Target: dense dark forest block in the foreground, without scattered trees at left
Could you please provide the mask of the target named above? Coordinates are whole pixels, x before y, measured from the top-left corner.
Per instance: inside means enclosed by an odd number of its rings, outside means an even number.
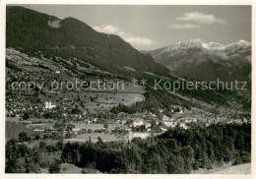
[[[225,162],[250,162],[250,124],[176,127],[158,137],[96,144],[67,143],[62,161],[103,173],[189,173]],[[150,157],[149,157],[150,156]]]

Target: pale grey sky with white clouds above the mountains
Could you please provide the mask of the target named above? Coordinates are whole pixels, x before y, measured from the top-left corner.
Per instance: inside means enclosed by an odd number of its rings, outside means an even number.
[[[23,5],[22,5],[23,6]],[[251,42],[251,6],[24,5],[55,16],[76,18],[97,31],[121,36],[138,50],[202,38],[229,44]]]

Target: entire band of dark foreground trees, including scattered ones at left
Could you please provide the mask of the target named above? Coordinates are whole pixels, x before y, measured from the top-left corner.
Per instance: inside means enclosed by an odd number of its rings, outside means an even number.
[[[6,144],[7,173],[60,172],[60,163],[73,163],[83,171],[102,173],[189,173],[199,168],[211,169],[231,162],[251,160],[251,124],[191,124],[189,129],[169,129],[157,137],[135,138],[131,142],[88,141],[83,144],[59,141],[55,146],[42,141],[36,148],[18,141]],[[42,153],[56,153],[60,159],[43,163]],[[150,157],[149,157],[150,156]]]

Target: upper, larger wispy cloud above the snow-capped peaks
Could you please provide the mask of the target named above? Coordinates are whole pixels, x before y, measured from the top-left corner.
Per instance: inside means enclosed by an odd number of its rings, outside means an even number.
[[[214,15],[206,15],[199,12],[185,13],[182,17],[176,18],[179,22],[191,22],[200,25],[223,24],[223,20],[217,19]]]

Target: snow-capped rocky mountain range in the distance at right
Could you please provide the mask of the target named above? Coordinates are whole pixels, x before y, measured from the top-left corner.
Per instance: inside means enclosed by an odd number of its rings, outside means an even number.
[[[206,81],[250,81],[251,43],[245,40],[224,45],[191,39],[144,53],[176,75]]]

